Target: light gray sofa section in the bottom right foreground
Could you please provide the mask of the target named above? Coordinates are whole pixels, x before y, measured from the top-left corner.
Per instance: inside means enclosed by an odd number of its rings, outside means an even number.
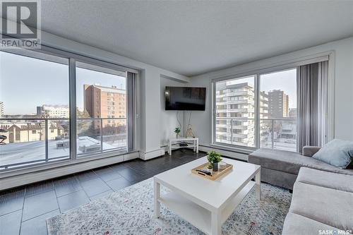
[[[301,167],[282,235],[352,233],[353,176]]]

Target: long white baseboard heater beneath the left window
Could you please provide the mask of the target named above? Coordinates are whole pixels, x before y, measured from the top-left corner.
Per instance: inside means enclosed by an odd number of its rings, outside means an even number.
[[[16,176],[9,176],[0,179],[0,191],[8,188],[23,186],[28,183],[35,183],[37,181],[53,179],[59,176],[75,174],[80,171],[87,171],[89,169],[95,169],[97,167],[104,167],[110,164],[124,162],[134,158],[138,158],[138,152],[131,152],[125,155],[105,157],[101,159],[90,160],[88,162],[79,162],[77,164],[68,164],[62,167],[44,169],[40,171],[32,171],[25,174],[18,174]]]

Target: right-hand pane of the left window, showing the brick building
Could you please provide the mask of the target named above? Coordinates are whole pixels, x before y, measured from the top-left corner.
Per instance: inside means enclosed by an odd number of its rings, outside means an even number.
[[[76,62],[77,153],[126,150],[126,72]]]

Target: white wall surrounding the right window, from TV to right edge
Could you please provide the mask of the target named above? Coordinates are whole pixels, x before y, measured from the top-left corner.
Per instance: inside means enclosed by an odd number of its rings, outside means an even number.
[[[198,133],[200,144],[208,146],[212,143],[211,80],[213,78],[242,73],[243,71],[249,71],[251,68],[262,68],[281,61],[289,61],[290,59],[298,59],[331,50],[335,52],[335,138],[353,140],[353,37],[349,37],[345,40],[329,42],[317,47],[192,77],[190,85],[208,88],[206,111],[193,114],[197,121],[192,124],[194,130]]]

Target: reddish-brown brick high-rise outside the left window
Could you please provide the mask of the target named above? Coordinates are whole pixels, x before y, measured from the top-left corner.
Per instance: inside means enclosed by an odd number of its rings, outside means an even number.
[[[85,111],[92,118],[111,118],[107,123],[122,123],[114,118],[126,117],[126,90],[101,85],[83,85]],[[95,128],[100,123],[95,121]]]

